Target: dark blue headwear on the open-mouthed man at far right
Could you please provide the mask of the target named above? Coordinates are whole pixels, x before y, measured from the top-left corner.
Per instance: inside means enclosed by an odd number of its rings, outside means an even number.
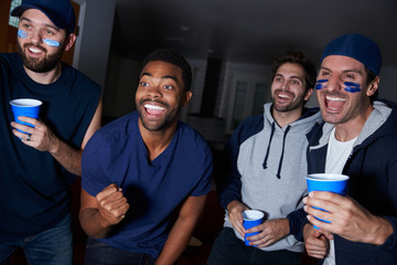
[[[352,57],[379,75],[382,55],[378,45],[361,34],[345,34],[331,41],[321,56],[321,62],[329,55]]]

